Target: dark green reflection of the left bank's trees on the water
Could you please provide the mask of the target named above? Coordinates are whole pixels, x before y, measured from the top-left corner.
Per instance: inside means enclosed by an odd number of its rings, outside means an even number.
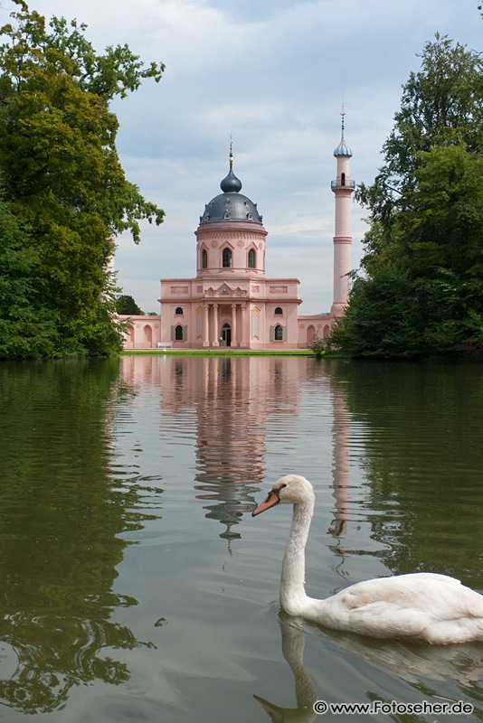
[[[56,709],[72,685],[128,679],[102,650],[140,643],[109,620],[136,600],[111,593],[119,532],[137,489],[112,488],[109,446],[118,362],[52,362],[0,370],[0,681],[7,706]]]

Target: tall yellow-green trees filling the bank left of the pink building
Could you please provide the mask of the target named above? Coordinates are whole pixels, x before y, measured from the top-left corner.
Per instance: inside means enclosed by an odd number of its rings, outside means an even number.
[[[94,52],[85,26],[29,11],[0,29],[0,358],[120,345],[109,260],[117,233],[164,212],[129,183],[109,101],[161,78],[128,46]]]

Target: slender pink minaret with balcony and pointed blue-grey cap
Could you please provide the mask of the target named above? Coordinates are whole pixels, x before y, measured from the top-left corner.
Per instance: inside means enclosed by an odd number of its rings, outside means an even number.
[[[334,235],[334,298],[330,313],[342,316],[347,305],[350,290],[348,274],[351,268],[351,195],[355,189],[354,181],[350,180],[349,158],[352,151],[344,138],[344,107],[342,116],[342,138],[334,151],[337,159],[336,181],[330,183],[336,194],[336,230]]]

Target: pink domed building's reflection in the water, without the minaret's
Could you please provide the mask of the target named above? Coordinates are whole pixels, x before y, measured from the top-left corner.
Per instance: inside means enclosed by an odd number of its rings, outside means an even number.
[[[183,430],[194,445],[195,497],[206,517],[223,524],[221,537],[240,536],[236,525],[253,509],[265,476],[267,431],[280,418],[297,418],[299,380],[309,379],[313,365],[309,358],[263,355],[121,358],[127,389],[156,389],[163,444],[183,444]]]

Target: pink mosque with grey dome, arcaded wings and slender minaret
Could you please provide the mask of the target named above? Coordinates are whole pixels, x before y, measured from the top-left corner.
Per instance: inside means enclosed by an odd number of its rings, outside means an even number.
[[[196,277],[161,279],[159,316],[122,316],[130,325],[124,349],[305,349],[327,337],[344,313],[351,271],[352,151],[342,137],[334,151],[336,197],[334,295],[330,313],[299,315],[298,278],[265,276],[266,238],[257,204],[241,193],[230,170],[208,202],[196,236]]]

